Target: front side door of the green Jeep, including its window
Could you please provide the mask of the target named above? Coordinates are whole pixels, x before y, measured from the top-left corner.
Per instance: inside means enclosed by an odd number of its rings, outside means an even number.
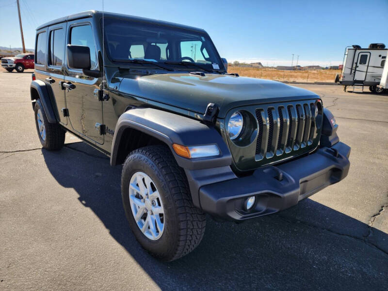
[[[66,44],[89,47],[91,69],[98,69],[92,23],[80,23],[79,20],[68,22],[66,36]],[[88,77],[82,70],[70,69],[66,62],[65,83],[74,85],[73,89],[65,88],[70,130],[81,134],[86,140],[103,144],[104,135],[100,135],[96,129],[96,125],[102,125],[102,101],[94,97],[94,90],[99,89],[101,78]]]

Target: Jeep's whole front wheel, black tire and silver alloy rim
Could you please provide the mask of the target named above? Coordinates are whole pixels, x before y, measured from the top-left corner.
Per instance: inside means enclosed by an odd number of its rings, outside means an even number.
[[[152,255],[172,261],[201,242],[206,216],[194,207],[186,175],[167,146],[146,146],[128,155],[121,194],[133,234]]]

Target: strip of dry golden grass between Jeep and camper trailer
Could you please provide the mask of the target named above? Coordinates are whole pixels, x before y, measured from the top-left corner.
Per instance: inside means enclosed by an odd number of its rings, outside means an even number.
[[[227,71],[244,77],[296,82],[334,82],[336,74],[340,74],[340,70],[282,71],[273,68],[259,69],[230,65]]]

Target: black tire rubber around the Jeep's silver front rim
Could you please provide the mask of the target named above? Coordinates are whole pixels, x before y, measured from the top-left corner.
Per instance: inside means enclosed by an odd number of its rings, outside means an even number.
[[[156,241],[143,234],[130,209],[129,181],[136,172],[147,174],[162,197],[164,230]],[[194,207],[186,175],[167,146],[145,146],[128,155],[121,174],[121,194],[125,214],[136,240],[155,257],[165,261],[179,259],[201,242],[206,215]]]

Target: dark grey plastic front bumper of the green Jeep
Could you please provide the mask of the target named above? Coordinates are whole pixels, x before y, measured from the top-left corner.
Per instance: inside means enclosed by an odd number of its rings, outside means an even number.
[[[259,168],[248,177],[204,185],[199,189],[199,203],[205,212],[226,220],[275,213],[345,178],[349,155],[350,147],[341,142],[322,147],[291,162]],[[244,202],[253,195],[255,205],[247,211]]]

